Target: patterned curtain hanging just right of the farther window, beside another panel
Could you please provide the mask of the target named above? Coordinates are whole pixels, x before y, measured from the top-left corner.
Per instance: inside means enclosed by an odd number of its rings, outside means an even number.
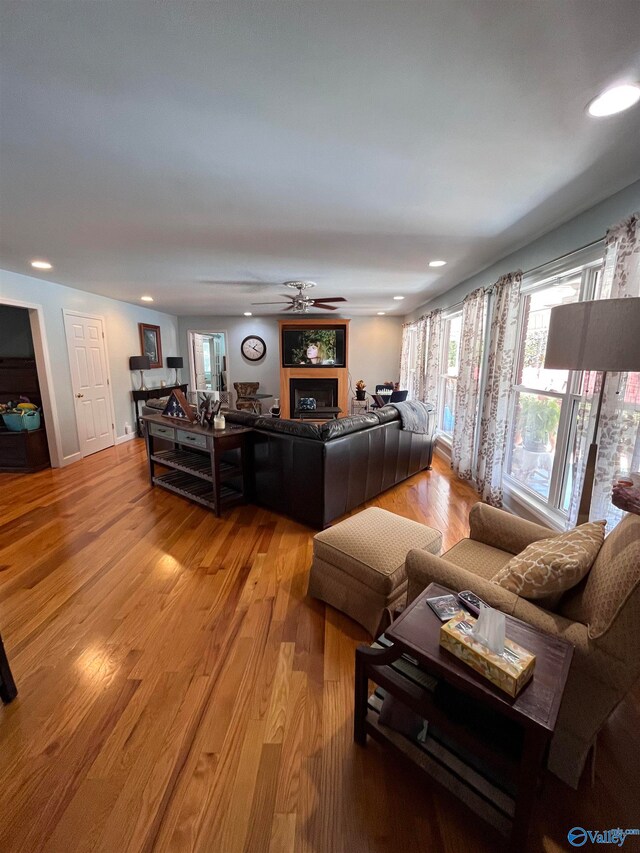
[[[451,437],[451,467],[461,480],[474,479],[476,473],[474,457],[486,309],[487,294],[483,288],[470,293],[462,305],[456,415]]]

